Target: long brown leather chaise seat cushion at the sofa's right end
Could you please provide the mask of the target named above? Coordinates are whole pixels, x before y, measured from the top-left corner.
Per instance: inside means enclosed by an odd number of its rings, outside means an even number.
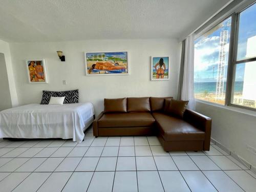
[[[165,141],[202,141],[205,138],[205,132],[183,119],[158,112],[153,113],[153,117]]]

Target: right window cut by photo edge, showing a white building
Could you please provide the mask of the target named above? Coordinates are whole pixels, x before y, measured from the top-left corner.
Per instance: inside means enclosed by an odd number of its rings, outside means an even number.
[[[256,4],[239,15],[231,103],[256,109]]]

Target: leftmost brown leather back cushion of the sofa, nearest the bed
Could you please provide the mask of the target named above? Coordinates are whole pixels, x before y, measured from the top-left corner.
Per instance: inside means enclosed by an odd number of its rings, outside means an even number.
[[[104,113],[126,112],[126,98],[104,99]]]

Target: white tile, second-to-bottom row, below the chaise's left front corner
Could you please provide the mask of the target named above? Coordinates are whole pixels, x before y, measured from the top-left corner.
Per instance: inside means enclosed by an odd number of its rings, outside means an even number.
[[[170,156],[155,156],[154,159],[158,170],[178,170]]]

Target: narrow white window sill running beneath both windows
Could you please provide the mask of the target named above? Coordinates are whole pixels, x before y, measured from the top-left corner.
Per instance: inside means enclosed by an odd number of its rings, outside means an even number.
[[[234,106],[221,105],[221,104],[217,104],[217,103],[203,101],[203,100],[200,100],[200,99],[195,99],[195,102],[204,103],[204,104],[208,104],[208,105],[211,105],[211,106],[216,106],[217,108],[222,108],[222,109],[225,109],[225,110],[234,111],[234,112],[238,112],[238,113],[242,113],[242,114],[246,114],[246,115],[256,117],[256,112],[255,111],[250,111],[250,110],[246,110],[246,109],[242,109],[242,108],[236,108]]]

